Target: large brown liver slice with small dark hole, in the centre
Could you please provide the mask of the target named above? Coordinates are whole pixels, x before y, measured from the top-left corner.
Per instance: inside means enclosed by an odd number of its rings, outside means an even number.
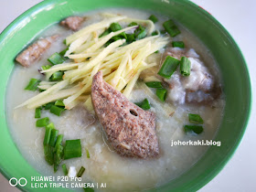
[[[119,155],[149,158],[159,154],[154,112],[145,112],[128,101],[103,81],[101,71],[93,77],[91,98],[108,140]]]

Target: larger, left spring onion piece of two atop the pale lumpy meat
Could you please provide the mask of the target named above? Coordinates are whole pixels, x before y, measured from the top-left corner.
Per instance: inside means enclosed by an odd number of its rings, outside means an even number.
[[[166,79],[170,79],[172,74],[176,71],[179,62],[180,61],[178,59],[175,59],[171,56],[167,56],[161,69],[158,71],[157,74]]]

